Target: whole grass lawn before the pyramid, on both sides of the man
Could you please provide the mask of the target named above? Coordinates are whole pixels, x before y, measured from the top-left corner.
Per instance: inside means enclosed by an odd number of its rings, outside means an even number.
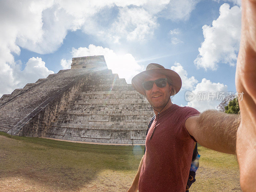
[[[127,191],[144,150],[144,146],[134,146],[142,151],[131,151],[132,146],[71,143],[4,132],[0,132],[0,146],[0,191],[31,192]],[[190,191],[241,191],[235,156],[204,147],[198,151],[200,167]]]

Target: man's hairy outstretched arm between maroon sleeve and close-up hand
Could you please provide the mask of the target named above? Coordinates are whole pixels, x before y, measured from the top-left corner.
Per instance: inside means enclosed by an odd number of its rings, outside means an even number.
[[[199,116],[188,117],[185,127],[200,145],[236,154],[236,131],[239,124],[239,115],[207,110]]]

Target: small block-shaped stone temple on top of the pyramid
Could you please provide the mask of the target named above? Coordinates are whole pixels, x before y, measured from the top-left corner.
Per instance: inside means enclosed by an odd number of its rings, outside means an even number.
[[[103,55],[72,58],[71,69],[93,67],[108,68]]]

